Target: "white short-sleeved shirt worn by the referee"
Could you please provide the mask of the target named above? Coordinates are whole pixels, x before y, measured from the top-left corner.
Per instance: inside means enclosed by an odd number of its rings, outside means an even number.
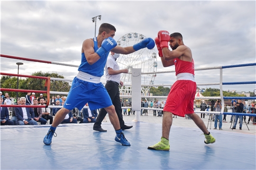
[[[119,70],[119,66],[115,58],[110,55],[107,59],[105,71],[106,71],[106,81],[114,81],[120,83],[120,74],[117,75],[109,75],[108,68],[112,68],[113,70]]]

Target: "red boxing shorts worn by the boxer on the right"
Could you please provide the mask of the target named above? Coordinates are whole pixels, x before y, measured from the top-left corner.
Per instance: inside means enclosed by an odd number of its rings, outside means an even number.
[[[178,80],[168,94],[164,111],[185,117],[185,114],[194,113],[194,99],[196,83],[191,80]]]

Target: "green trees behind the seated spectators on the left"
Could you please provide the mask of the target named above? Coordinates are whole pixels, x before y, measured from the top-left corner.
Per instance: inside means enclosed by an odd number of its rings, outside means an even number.
[[[38,71],[35,73],[32,73],[32,76],[44,76],[44,77],[54,77],[54,78],[64,78],[64,76],[59,75],[58,73],[43,73],[42,71]],[[39,78],[21,78],[19,77],[18,80],[18,88],[24,89],[24,90],[45,90],[45,79],[39,79]],[[57,92],[68,92],[70,89],[69,82],[65,81],[54,81],[51,80],[50,83],[50,91],[57,91]],[[11,76],[1,76],[0,79],[0,86],[1,88],[11,88],[11,89],[17,89],[17,77],[11,77]],[[6,92],[2,92],[5,94]],[[11,97],[16,96],[16,92],[7,92]],[[25,96],[27,93],[18,93],[18,96]],[[57,95],[57,94],[56,94]],[[39,94],[36,94],[38,97]],[[44,94],[46,96],[46,94]]]

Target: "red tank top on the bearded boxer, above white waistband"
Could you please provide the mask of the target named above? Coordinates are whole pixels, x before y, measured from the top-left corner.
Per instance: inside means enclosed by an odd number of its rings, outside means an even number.
[[[193,59],[192,59],[192,62],[189,62],[189,61],[183,61],[179,58],[176,58],[174,59],[174,65],[175,65],[176,76],[177,74],[180,74],[180,73],[190,73],[192,75],[195,75]]]

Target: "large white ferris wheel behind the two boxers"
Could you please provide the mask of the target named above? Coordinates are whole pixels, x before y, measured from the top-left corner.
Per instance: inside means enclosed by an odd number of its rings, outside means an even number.
[[[128,33],[119,38],[117,43],[121,47],[128,47],[133,46],[144,38],[146,38],[146,36],[143,34]],[[117,62],[120,69],[127,68],[129,72],[131,72],[131,68],[141,68],[142,73],[156,72],[157,69],[157,59],[154,48],[152,50],[144,48],[128,55],[120,54]],[[124,84],[128,84],[121,87],[120,93],[131,93],[131,87],[129,86],[131,85],[131,74],[122,73],[120,76],[121,81],[124,82]],[[143,85],[153,85],[155,76],[156,74],[144,74],[141,76],[141,83]],[[142,93],[147,93],[149,89],[150,86],[142,87]]]

